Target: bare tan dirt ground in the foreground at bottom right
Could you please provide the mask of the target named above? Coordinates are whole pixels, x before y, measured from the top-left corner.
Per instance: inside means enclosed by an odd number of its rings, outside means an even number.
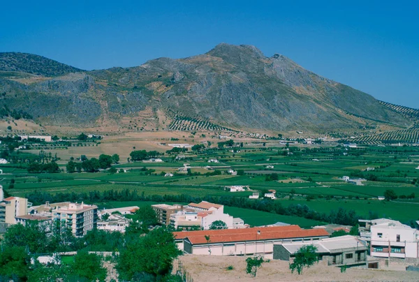
[[[263,263],[253,278],[246,274],[246,257],[183,255],[179,259],[193,281],[419,281],[418,272],[348,268],[341,273],[338,267],[323,265],[322,262],[297,275],[291,274],[288,262],[282,260]],[[227,270],[229,265],[234,269]]]

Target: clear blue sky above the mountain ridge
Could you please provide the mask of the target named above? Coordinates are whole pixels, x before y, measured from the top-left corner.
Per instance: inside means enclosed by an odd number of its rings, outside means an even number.
[[[418,12],[417,1],[385,0],[8,1],[0,9],[0,52],[91,70],[189,57],[221,42],[250,44],[419,108]]]

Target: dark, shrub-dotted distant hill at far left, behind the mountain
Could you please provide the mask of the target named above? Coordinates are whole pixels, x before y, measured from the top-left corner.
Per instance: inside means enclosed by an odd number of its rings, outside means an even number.
[[[34,54],[0,52],[0,71],[30,73],[50,77],[76,73],[82,70]]]

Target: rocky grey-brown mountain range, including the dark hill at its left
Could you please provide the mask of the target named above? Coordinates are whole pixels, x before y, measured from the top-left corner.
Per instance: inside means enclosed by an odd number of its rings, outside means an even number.
[[[128,117],[135,121],[131,129],[138,130],[146,124],[141,119],[147,112],[147,120],[161,129],[179,128],[172,126],[178,122],[184,129],[213,124],[311,132],[411,125],[362,91],[307,71],[280,54],[265,57],[249,45],[223,43],[194,57],[101,71],[80,71],[30,54],[13,59],[10,54],[16,53],[0,54],[0,106],[26,112],[43,124],[122,126]],[[43,75],[45,80],[24,80],[2,71]]]

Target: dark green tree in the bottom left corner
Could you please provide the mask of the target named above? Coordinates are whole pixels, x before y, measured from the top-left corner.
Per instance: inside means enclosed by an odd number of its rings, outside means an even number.
[[[24,247],[0,248],[0,281],[26,281],[31,265]]]

